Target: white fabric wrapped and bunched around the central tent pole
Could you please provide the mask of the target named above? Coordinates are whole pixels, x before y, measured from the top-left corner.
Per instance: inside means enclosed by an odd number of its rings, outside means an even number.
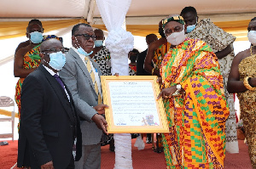
[[[133,36],[122,28],[131,0],[96,0],[102,20],[108,30],[105,41],[111,55],[112,74],[129,75],[128,53],[133,48]],[[132,168],[131,134],[116,133],[113,135],[115,144],[115,169]]]

